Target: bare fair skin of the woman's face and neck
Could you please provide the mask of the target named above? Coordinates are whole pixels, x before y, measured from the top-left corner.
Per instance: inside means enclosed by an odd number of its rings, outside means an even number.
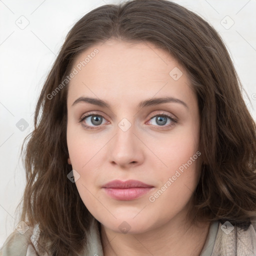
[[[69,83],[67,146],[68,162],[80,175],[75,182],[80,197],[101,223],[104,255],[199,255],[209,222],[191,226],[185,221],[198,181],[199,156],[158,198],[149,201],[199,150],[199,110],[185,70],[149,42],[114,39],[82,52],[73,67],[95,48],[99,52]],[[183,73],[177,80],[169,75],[174,67]],[[73,104],[81,96],[100,98],[110,108]],[[187,107],[166,102],[138,108],[141,100],[164,96],[180,99]],[[79,122],[91,111],[103,116],[101,124],[92,123],[91,116]],[[160,125],[155,117],[161,115],[159,111],[177,122],[167,118]],[[118,126],[123,118],[131,125],[126,131]],[[94,129],[85,129],[82,123]],[[113,179],[136,179],[153,188],[133,200],[116,200],[101,187]],[[123,221],[130,227],[127,233],[118,228]]]

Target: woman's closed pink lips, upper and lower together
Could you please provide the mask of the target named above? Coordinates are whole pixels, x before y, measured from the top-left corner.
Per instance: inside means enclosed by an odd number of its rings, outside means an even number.
[[[154,186],[139,180],[112,180],[102,186],[104,191],[117,200],[133,200],[149,192]]]

